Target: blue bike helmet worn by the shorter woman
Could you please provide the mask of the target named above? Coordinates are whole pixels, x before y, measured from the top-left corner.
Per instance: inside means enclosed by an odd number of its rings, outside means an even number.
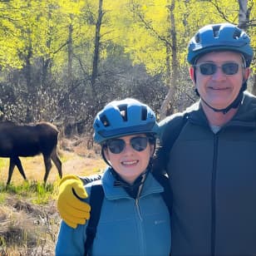
[[[131,98],[111,101],[107,104],[96,115],[93,128],[94,140],[99,144],[125,135],[140,133],[157,135],[159,130],[154,111]]]

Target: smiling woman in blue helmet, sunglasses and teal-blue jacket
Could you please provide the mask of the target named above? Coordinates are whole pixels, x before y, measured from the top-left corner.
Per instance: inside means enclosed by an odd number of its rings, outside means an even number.
[[[170,214],[164,188],[150,173],[158,125],[149,106],[134,99],[111,101],[96,115],[94,140],[109,167],[102,176],[104,199],[89,255],[169,255]],[[86,192],[90,199],[91,186]],[[84,255],[86,224],[64,221],[57,255]]]

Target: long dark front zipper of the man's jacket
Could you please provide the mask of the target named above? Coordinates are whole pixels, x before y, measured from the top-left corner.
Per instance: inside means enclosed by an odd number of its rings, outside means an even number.
[[[218,145],[219,135],[214,135],[214,160],[212,172],[212,188],[211,188],[211,201],[212,201],[212,220],[211,220],[211,255],[215,255],[215,233],[216,233],[216,175],[217,175],[217,160],[218,160]]]

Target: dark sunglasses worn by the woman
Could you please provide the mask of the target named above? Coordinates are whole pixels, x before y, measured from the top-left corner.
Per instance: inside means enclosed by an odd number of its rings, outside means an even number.
[[[131,147],[136,151],[145,150],[148,145],[149,138],[148,137],[133,137],[130,139]],[[106,141],[106,147],[111,150],[113,154],[120,154],[126,147],[126,141],[122,139],[112,139]]]

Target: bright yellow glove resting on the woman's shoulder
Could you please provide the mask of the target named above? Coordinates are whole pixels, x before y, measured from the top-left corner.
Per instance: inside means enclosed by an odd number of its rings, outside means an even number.
[[[62,219],[71,228],[85,224],[90,219],[91,206],[81,201],[88,197],[83,183],[76,175],[66,175],[59,185],[57,209]]]

